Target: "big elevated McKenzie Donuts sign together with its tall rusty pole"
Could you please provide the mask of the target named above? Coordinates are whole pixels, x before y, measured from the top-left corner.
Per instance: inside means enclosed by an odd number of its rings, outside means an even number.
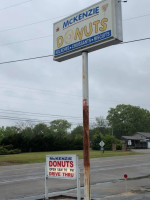
[[[121,1],[101,0],[54,23],[53,32],[55,61],[82,54],[84,200],[90,200],[88,53],[123,41]]]

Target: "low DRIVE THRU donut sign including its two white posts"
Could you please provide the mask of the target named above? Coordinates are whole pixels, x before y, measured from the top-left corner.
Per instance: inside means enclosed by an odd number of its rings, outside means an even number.
[[[77,155],[47,155],[45,166],[45,199],[48,199],[48,179],[77,180],[77,200],[80,200],[80,169]]]

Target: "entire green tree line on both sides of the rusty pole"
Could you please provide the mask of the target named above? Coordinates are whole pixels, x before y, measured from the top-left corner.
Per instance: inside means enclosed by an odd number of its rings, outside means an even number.
[[[137,106],[117,105],[108,111],[106,119],[98,117],[90,127],[92,149],[100,149],[101,140],[105,142],[106,150],[111,150],[112,143],[120,149],[119,139],[123,135],[150,132],[150,112]],[[81,149],[83,127],[78,125],[71,129],[71,123],[64,119],[53,120],[48,125],[39,123],[0,128],[1,154]]]

